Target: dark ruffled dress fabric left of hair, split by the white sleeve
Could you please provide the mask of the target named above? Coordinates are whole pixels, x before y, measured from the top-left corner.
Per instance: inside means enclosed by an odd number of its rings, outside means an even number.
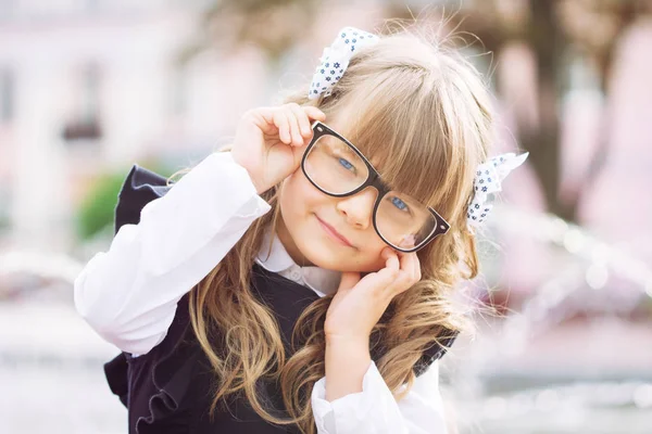
[[[134,165],[123,183],[115,206],[115,233],[123,225],[140,221],[140,212],[149,202],[167,193],[167,179]],[[164,433],[165,426],[186,417],[190,407],[188,394],[192,370],[197,368],[201,348],[192,339],[188,312],[188,294],[178,302],[175,318],[165,339],[139,357],[122,353],[104,365],[111,392],[129,407],[129,432]]]

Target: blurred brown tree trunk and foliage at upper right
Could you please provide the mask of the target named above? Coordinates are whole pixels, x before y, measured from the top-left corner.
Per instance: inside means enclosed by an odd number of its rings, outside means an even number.
[[[412,16],[405,5],[410,2],[390,3],[391,16]],[[418,0],[414,3],[415,8],[423,5]],[[444,3],[455,8],[460,4],[459,0]],[[635,20],[649,11],[649,0],[482,0],[464,2],[459,13],[447,18],[456,33],[477,36],[496,58],[514,44],[524,44],[531,53],[536,64],[536,98],[531,104],[537,119],[532,123],[525,112],[515,113],[514,133],[518,145],[530,152],[528,162],[539,178],[548,210],[565,220],[577,221],[581,193],[587,191],[582,187],[592,183],[609,153],[610,127],[603,111],[600,143],[582,186],[562,197],[560,106],[567,88],[567,60],[573,53],[595,65],[600,91],[607,99],[618,42]]]

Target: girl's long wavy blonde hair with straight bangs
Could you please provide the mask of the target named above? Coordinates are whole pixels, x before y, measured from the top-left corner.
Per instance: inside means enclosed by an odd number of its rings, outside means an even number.
[[[376,167],[391,186],[410,191],[451,225],[446,235],[417,253],[422,280],[394,297],[372,334],[373,345],[383,348],[376,365],[397,399],[412,386],[424,350],[443,345],[466,324],[452,307],[451,294],[461,280],[478,272],[466,206],[475,167],[486,159],[491,140],[489,95],[479,74],[428,35],[409,28],[385,35],[351,59],[331,95],[309,100],[305,84],[285,101],[317,106],[326,119],[348,108],[350,122],[339,132],[377,158]],[[242,393],[266,421],[297,424],[314,434],[310,395],[325,374],[323,327],[333,297],[315,301],[301,314],[288,358],[274,312],[250,288],[264,233],[280,218],[278,188],[262,197],[272,212],[253,222],[190,294],[192,328],[217,380],[211,413],[229,395]],[[212,343],[215,335],[225,345],[220,354]],[[297,342],[304,344],[296,347]],[[265,408],[256,394],[260,379],[278,381],[289,419]],[[404,383],[408,387],[399,391]]]

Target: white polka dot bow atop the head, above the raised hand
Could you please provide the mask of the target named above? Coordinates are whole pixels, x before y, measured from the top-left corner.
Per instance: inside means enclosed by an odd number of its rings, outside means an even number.
[[[373,46],[378,42],[378,36],[360,30],[355,27],[342,28],[330,47],[324,49],[319,59],[319,66],[313,75],[308,98],[314,100],[330,95],[334,86],[342,78],[349,66],[349,61],[363,47]]]

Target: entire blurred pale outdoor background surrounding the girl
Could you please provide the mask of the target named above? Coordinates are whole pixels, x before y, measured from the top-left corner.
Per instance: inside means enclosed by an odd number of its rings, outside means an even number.
[[[72,284],[133,164],[197,164],[339,28],[424,10],[490,81],[494,153],[530,152],[466,289],[502,315],[443,359],[456,431],[652,433],[650,0],[1,0],[0,432],[126,432]]]

